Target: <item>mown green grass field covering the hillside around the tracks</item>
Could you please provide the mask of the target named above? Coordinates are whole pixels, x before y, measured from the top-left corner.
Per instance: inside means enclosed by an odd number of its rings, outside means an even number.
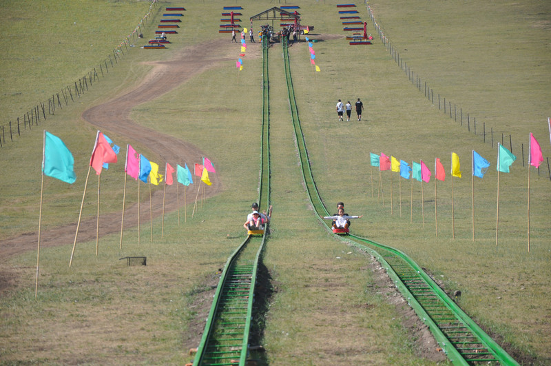
[[[353,232],[406,252],[441,279],[448,292],[461,290],[459,305],[519,362],[548,364],[551,182],[546,162],[540,175],[532,168],[528,252],[526,155],[530,132],[543,156],[551,152],[546,125],[551,63],[545,57],[550,47],[549,4],[370,2],[386,37],[435,92],[476,116],[477,122],[486,123],[487,132],[493,128],[499,141],[501,134],[507,136],[508,148],[511,134],[518,159],[510,174],[500,174],[496,246],[496,147],[431,105],[377,37],[371,46],[349,46],[337,3],[300,1],[303,23],[315,26],[310,37],[318,40],[313,48],[321,72],[313,72],[305,43],[290,50],[300,121],[320,196],[329,211],[337,201],[344,201],[350,214],[365,214],[353,223]],[[171,37],[171,48],[163,52],[132,48],[79,101],[14,143],[6,141],[0,149],[5,178],[0,185],[0,240],[38,229],[43,129],[65,141],[74,154],[78,177],[74,185],[45,180],[45,230],[75,222],[79,214],[96,133],[81,119],[82,112],[132,90],[151,70],[149,61],[171,59],[180,48],[211,39],[226,37],[229,42],[231,36],[216,32],[222,6],[227,5],[161,2],[154,8],[151,26],[143,30],[145,39],[136,45],[154,37],[153,25],[161,17],[161,8],[185,6],[181,37]],[[245,8],[242,19],[278,6],[268,1],[239,5]],[[368,21],[366,7],[357,6]],[[0,57],[5,70],[0,77],[4,90],[0,124],[5,124],[107,57],[147,13],[149,2],[18,1],[3,2],[0,7],[6,17],[1,29],[9,35],[2,40],[6,51]],[[115,15],[117,21],[112,21]],[[40,20],[30,27],[30,19]],[[257,24],[254,27],[258,29]],[[368,28],[375,36],[369,21]],[[17,48],[10,47],[13,37],[21,37]],[[200,329],[198,298],[209,291],[218,268],[245,238],[242,222],[257,197],[262,61],[256,57],[256,48],[258,43],[249,43],[240,74],[235,61],[221,61],[132,113],[137,123],[191,141],[204,151],[216,166],[223,192],[207,199],[186,223],[178,225],[176,212],[167,215],[163,239],[160,219],[154,220],[152,243],[149,223],[145,223],[140,246],[136,228],[125,232],[123,250],[118,249],[118,235],[106,236],[100,240],[97,257],[95,243],[79,245],[72,268],[67,267],[72,243],[41,250],[37,301],[36,253],[3,261],[0,278],[7,281],[17,274],[17,281],[0,298],[2,363],[180,364],[189,360],[187,347],[196,337],[190,333]],[[280,46],[269,54],[274,214],[264,265],[277,287],[261,340],[269,363],[433,364],[419,357],[400,314],[373,286],[368,269],[371,258],[333,240],[313,216],[295,152]],[[212,57],[222,56],[212,50]],[[337,123],[337,99],[354,103],[358,97],[366,107],[362,121]],[[132,143],[125,136],[109,135],[121,146]],[[134,148],[163,163],[154,149]],[[475,179],[474,242],[471,150],[492,163],[484,179]],[[415,181],[412,191],[410,181],[392,177],[391,214],[390,173],[382,172],[383,205],[370,152],[408,162],[423,160],[431,171],[434,159],[441,159],[446,181],[437,185],[438,236],[433,179],[423,185],[423,227],[420,183]],[[459,154],[463,171],[461,179],[454,179],[455,239],[451,236],[451,152]],[[102,181],[103,212],[121,209],[122,165],[110,167]],[[87,199],[83,214],[88,218],[96,214],[93,197]],[[147,256],[148,265],[126,267],[118,258],[127,255]]]

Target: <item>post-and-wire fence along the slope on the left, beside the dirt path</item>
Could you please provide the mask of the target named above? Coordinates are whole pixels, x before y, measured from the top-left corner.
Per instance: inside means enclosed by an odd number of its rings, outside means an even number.
[[[74,103],[75,99],[79,99],[85,94],[94,83],[100,81],[100,76],[105,78],[106,74],[109,74],[121,59],[130,49],[131,44],[136,42],[139,35],[142,34],[142,26],[147,26],[156,8],[158,0],[152,0],[151,6],[147,14],[141,19],[140,23],[132,30],[132,33],[127,35],[116,48],[112,50],[111,54],[108,54],[103,61],[94,66],[89,72],[85,73],[83,77],[74,81],[70,85],[66,85],[61,88],[59,92],[54,92],[48,101],[40,101],[37,105],[34,105],[30,110],[23,113],[23,116],[18,116],[17,119],[9,121],[8,124],[0,125],[0,148],[6,145],[7,141],[14,141],[16,136],[27,130],[31,131],[34,127],[37,127],[39,123],[47,120],[51,116],[54,116],[56,110],[63,109],[63,106]],[[132,39],[132,41],[130,41]]]

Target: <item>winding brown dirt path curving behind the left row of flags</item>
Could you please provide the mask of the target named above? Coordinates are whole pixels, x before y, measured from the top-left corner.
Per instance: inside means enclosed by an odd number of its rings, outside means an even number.
[[[217,39],[201,43],[200,45],[184,48],[170,61],[153,63],[155,67],[145,76],[143,82],[137,88],[125,91],[114,99],[83,112],[83,119],[98,127],[99,130],[115,132],[126,136],[131,141],[136,141],[147,146],[160,156],[163,161],[200,161],[205,156],[195,145],[186,141],[175,139],[167,134],[150,130],[138,125],[130,119],[132,108],[141,103],[152,101],[185,83],[191,77],[213,68],[220,61],[232,60],[228,54],[235,48],[227,39]],[[222,190],[222,184],[216,174],[209,176],[213,182],[211,187],[205,190],[205,196],[214,196]],[[147,195],[143,195],[147,196]],[[152,196],[153,216],[162,214],[163,192],[157,191]],[[188,201],[193,202],[191,195]],[[142,203],[149,206],[149,197]],[[180,205],[182,202],[180,202]],[[177,210],[176,201],[165,202],[165,212]],[[138,225],[138,214],[135,205],[125,208],[125,229]],[[103,214],[100,218],[100,236],[121,232],[121,212]],[[149,210],[141,210],[141,223],[149,222]],[[52,230],[41,232],[41,247],[66,245],[73,243],[76,232],[76,222],[56,227]],[[79,227],[78,242],[91,241],[96,238],[96,219],[82,221]],[[0,241],[0,258],[6,258],[14,254],[36,250],[38,233],[28,232]],[[8,275],[9,276],[9,275]],[[0,276],[0,290],[9,286],[10,278]]]

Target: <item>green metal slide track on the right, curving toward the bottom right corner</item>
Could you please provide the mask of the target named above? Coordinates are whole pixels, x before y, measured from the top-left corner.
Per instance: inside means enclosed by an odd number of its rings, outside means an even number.
[[[328,216],[329,212],[315,187],[306,141],[300,126],[287,44],[283,44],[283,57],[287,89],[289,90],[289,105],[291,106],[304,185],[318,219],[327,230],[330,230],[322,220],[322,216]],[[472,321],[446,292],[405,253],[355,235],[346,236],[342,240],[360,250],[369,252],[382,263],[399,291],[407,299],[408,304],[426,323],[440,347],[455,365],[481,365],[483,363],[484,365],[518,365],[517,361]]]

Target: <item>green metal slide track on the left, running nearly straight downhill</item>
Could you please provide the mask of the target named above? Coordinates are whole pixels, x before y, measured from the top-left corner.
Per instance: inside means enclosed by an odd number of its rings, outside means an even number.
[[[262,42],[262,137],[258,203],[270,203],[269,74],[268,47]],[[268,232],[266,227],[265,232]],[[258,263],[266,235],[247,236],[231,254],[220,276],[205,332],[194,358],[195,365],[245,365],[253,314]]]

